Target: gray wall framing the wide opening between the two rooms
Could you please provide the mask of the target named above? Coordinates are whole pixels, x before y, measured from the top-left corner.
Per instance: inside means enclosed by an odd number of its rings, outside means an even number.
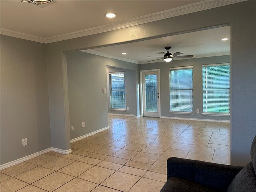
[[[256,134],[255,23],[256,2],[246,1],[46,44],[52,146],[64,150],[70,149],[66,58],[62,54],[63,52],[157,38],[230,24],[231,164],[247,164],[250,161],[250,145]],[[118,67],[122,68],[121,66]],[[138,86],[138,67],[131,65],[130,69],[136,70],[136,86]],[[136,91],[136,106],[138,106],[138,96],[139,92]],[[138,113],[138,108],[136,108],[136,113]]]

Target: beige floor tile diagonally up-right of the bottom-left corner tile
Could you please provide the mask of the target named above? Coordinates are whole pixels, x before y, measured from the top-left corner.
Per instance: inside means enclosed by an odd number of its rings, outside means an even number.
[[[27,172],[15,176],[15,178],[31,184],[53,172],[54,171],[50,169],[36,167],[34,169],[31,169]]]

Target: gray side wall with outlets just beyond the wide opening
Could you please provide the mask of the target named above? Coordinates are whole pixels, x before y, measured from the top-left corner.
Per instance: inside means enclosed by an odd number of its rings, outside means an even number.
[[[131,63],[80,51],[66,55],[70,126],[74,126],[73,131],[70,128],[70,138],[74,139],[108,126],[108,94],[102,92],[102,88],[107,88],[107,66],[126,68]],[[128,76],[132,75],[133,86],[133,71],[124,70]],[[132,86],[128,86],[127,91]],[[130,102],[132,98],[128,100]],[[85,122],[85,128],[82,128],[82,122]]]

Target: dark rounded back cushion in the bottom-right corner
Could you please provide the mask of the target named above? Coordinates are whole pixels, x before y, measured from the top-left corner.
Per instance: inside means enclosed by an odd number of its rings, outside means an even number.
[[[252,162],[246,165],[236,175],[234,180],[228,187],[228,192],[255,192],[256,191],[256,176]]]

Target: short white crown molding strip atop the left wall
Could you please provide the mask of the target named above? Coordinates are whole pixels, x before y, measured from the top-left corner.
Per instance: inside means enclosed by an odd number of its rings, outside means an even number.
[[[30,41],[35,41],[35,42],[39,42],[39,43],[46,43],[46,38],[29,35],[29,34],[25,34],[25,33],[20,33],[20,32],[16,32],[16,31],[4,29],[4,28],[0,29],[0,34],[6,35],[6,36],[11,36],[11,37],[16,37],[16,38],[20,38],[20,39],[26,39],[26,40],[30,40]]]

